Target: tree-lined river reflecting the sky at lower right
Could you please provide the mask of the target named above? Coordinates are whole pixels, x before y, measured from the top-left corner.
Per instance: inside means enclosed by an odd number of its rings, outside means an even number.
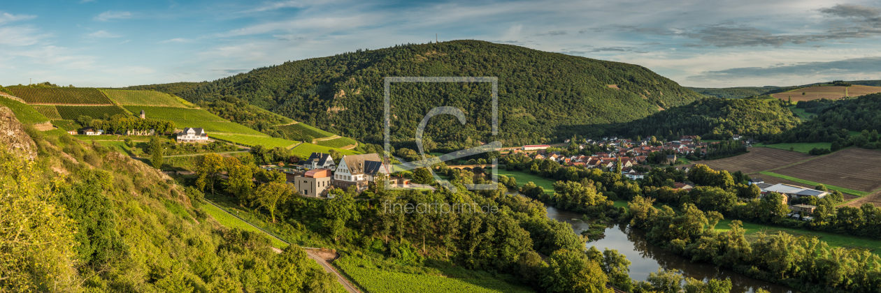
[[[589,229],[589,224],[580,220],[582,215],[579,213],[554,209],[553,207],[546,208],[548,217],[571,224],[575,233],[579,235],[581,235],[581,231]],[[698,280],[730,278],[731,283],[734,285],[731,292],[754,292],[759,288],[766,289],[771,293],[801,292],[787,286],[753,279],[712,264],[703,262],[692,263],[676,253],[649,244],[644,232],[631,230],[626,224],[618,224],[611,228],[606,228],[605,238],[588,243],[588,247],[590,246],[596,246],[600,251],[603,251],[604,248],[615,249],[618,250],[618,253],[624,254],[627,260],[631,262],[630,277],[633,280],[648,280],[648,273],[655,273],[658,267],[664,267],[666,269],[675,268],[682,272],[685,277],[692,277]]]

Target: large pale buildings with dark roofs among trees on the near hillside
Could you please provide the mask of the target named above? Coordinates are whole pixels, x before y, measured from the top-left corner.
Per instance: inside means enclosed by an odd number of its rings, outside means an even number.
[[[314,197],[327,196],[331,188],[354,187],[360,193],[374,184],[375,178],[380,174],[388,176],[391,173],[387,161],[375,153],[343,156],[337,165],[329,154],[313,152],[291,168],[280,168],[276,165],[262,167],[284,172],[287,181],[293,184],[298,194]],[[389,184],[407,187],[410,180],[389,178]]]

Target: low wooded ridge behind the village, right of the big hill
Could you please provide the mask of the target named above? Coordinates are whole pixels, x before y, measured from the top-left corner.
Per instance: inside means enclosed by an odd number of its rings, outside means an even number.
[[[764,139],[798,125],[798,118],[783,103],[776,99],[700,99],[637,121],[613,125],[607,133],[668,139],[685,135],[705,139],[729,139],[732,135]]]

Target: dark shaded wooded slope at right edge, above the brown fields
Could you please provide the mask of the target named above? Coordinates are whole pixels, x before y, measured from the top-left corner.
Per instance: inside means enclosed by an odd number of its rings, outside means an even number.
[[[817,113],[817,118],[774,136],[773,143],[826,142],[840,147],[851,144],[869,149],[881,147],[881,143],[877,143],[877,131],[881,129],[881,93],[834,101],[801,101],[797,106]],[[849,131],[864,134],[851,137]]]

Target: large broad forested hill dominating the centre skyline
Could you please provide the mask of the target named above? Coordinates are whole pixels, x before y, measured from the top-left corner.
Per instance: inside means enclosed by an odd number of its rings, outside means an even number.
[[[500,136],[490,137],[488,84],[392,86],[393,141],[407,141],[434,106],[458,106],[468,123],[458,134],[426,130],[435,142],[536,143],[569,136],[566,129],[639,119],[658,106],[700,95],[646,68],[478,40],[359,50],[285,62],[208,84],[171,91],[193,102],[234,96],[297,121],[377,143],[382,140],[383,77],[499,77]],[[196,85],[190,87],[189,85]],[[175,90],[176,89],[176,90]],[[433,121],[434,122],[434,121]],[[470,140],[469,140],[470,138]]]

